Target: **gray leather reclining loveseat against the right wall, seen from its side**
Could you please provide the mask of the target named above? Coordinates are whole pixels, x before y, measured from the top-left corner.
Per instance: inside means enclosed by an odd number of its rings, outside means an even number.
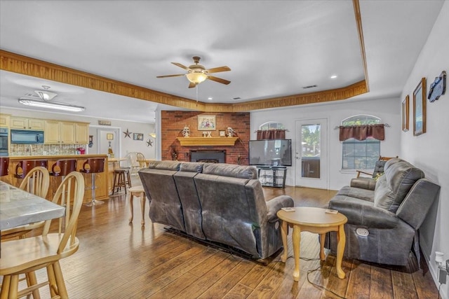
[[[424,172],[405,160],[393,158],[384,165],[384,174],[374,190],[351,182],[329,202],[347,216],[344,225],[344,257],[389,265],[406,265],[410,249],[418,262],[417,230],[424,221],[440,186],[424,179]],[[335,234],[328,233],[326,247],[337,249]]]

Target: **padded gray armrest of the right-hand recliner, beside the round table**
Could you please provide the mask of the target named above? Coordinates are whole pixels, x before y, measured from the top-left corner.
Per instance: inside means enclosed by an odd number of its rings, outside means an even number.
[[[351,201],[330,200],[329,209],[336,209],[347,216],[349,224],[363,225],[368,228],[395,228],[402,221],[396,214],[372,204]]]

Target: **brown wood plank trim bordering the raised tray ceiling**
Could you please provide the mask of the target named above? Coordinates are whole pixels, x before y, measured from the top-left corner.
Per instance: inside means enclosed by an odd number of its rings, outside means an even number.
[[[271,99],[261,99],[236,104],[213,104],[196,102],[192,99],[177,97],[168,93],[143,88],[138,85],[132,85],[84,71],[78,71],[69,67],[62,67],[58,64],[36,60],[31,57],[18,55],[5,50],[0,50],[0,69],[69,85],[76,85],[81,88],[90,88],[116,95],[123,95],[125,97],[134,97],[136,99],[144,99],[146,101],[203,112],[244,112],[258,109],[272,109],[276,107],[316,104],[349,99],[350,97],[362,95],[363,93],[369,91],[365,46],[363,41],[363,30],[358,0],[353,0],[353,5],[356,17],[358,39],[361,47],[365,80],[343,88],[337,88],[335,90],[324,90],[321,92],[275,97]]]

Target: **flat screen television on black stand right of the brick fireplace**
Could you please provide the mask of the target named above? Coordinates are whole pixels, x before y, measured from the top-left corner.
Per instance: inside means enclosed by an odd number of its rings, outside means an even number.
[[[292,166],[292,140],[250,140],[250,165]]]

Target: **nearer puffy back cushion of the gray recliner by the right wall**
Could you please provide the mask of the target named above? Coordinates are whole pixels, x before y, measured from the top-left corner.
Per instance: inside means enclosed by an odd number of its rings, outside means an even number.
[[[410,188],[422,178],[424,172],[409,162],[398,158],[388,160],[385,163],[384,175],[380,176],[375,186],[375,207],[396,213]]]

